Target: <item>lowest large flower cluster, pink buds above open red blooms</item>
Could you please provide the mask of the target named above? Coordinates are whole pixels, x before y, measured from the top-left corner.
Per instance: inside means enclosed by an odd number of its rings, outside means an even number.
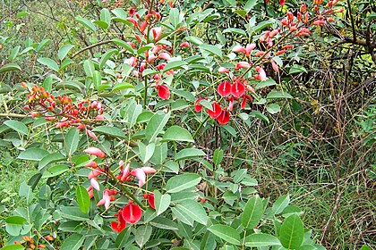
[[[101,159],[105,159],[107,156],[102,150],[100,150],[97,147],[90,147],[85,150],[85,153],[97,156]],[[100,168],[98,166],[98,163],[93,160],[90,160],[90,162],[85,164],[85,167],[90,168],[91,170],[88,175],[88,178],[90,179],[90,187],[87,188],[90,198],[94,197],[93,189],[100,191],[100,186],[97,178],[102,174],[106,175],[107,178],[114,178],[114,180],[116,180],[118,183],[130,182],[132,181],[132,177],[134,177],[138,179],[138,187],[142,187],[146,183],[146,174],[156,172],[155,169],[150,167],[136,168],[131,171],[131,164],[129,162],[125,164],[123,161],[119,162],[118,170],[120,172],[116,177],[113,174],[110,174],[110,171],[106,170],[106,167]],[[115,201],[115,196],[117,195],[120,195],[120,192],[116,189],[106,188],[103,191],[102,198],[98,201],[97,205],[104,205],[106,210],[108,210],[110,208],[111,202]],[[148,201],[150,207],[155,209],[154,194],[145,194],[143,197]],[[111,227],[116,232],[120,232],[125,228],[126,223],[134,224],[140,221],[141,215],[142,211],[140,205],[134,204],[134,197],[131,196],[128,201],[128,204],[126,204],[121,210],[119,210],[115,214],[115,217],[117,217],[117,221],[112,221]]]

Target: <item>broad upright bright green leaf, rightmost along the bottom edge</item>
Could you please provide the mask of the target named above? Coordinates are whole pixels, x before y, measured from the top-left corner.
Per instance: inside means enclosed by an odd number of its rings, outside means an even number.
[[[299,216],[292,214],[286,218],[279,229],[279,240],[287,249],[302,246],[304,238],[303,222]]]

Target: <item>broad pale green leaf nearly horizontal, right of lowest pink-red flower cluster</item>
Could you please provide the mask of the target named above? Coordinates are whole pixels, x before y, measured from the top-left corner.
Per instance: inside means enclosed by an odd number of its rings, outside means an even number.
[[[166,190],[167,193],[177,193],[184,189],[196,186],[200,181],[201,177],[196,173],[176,175],[167,180]]]

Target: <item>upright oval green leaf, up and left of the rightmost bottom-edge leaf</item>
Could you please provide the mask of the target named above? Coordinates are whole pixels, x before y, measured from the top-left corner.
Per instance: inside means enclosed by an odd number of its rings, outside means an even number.
[[[242,223],[245,229],[254,229],[261,220],[264,206],[260,196],[252,196],[245,204]]]

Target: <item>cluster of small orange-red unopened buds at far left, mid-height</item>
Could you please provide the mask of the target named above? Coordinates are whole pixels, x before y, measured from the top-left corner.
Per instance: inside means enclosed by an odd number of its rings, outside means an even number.
[[[22,82],[22,86],[28,88]],[[95,121],[104,120],[104,109],[97,101],[78,101],[73,103],[70,96],[54,96],[48,93],[44,87],[34,85],[30,89],[29,104],[23,108],[30,111],[32,118],[43,116],[46,121],[56,121],[56,129],[75,126],[85,130],[86,133],[98,139],[96,135],[87,127]]]

